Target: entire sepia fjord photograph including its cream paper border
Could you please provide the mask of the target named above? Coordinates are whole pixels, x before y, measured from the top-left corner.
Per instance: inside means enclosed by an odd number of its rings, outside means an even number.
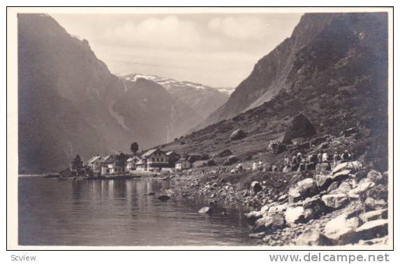
[[[392,8],[8,11],[10,246],[393,248]]]

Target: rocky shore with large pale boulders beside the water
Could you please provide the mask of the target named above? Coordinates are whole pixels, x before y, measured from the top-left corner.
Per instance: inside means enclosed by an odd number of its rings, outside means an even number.
[[[211,209],[247,205],[250,237],[260,244],[327,246],[387,244],[387,177],[350,161],[332,172],[194,170],[163,179],[179,179],[174,195],[206,197]]]

